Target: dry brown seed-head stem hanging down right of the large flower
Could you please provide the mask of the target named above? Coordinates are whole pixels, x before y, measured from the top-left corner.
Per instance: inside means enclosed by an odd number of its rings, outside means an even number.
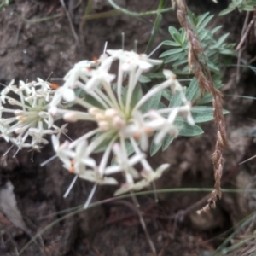
[[[172,1],[173,2],[173,1]],[[189,42],[189,70],[195,74],[198,80],[202,94],[210,92],[213,96],[212,106],[214,108],[214,122],[217,125],[217,138],[215,150],[212,154],[212,163],[214,168],[215,185],[207,206],[203,207],[198,213],[206,212],[210,208],[216,207],[216,201],[221,197],[221,177],[224,166],[223,150],[227,144],[226,128],[223,115],[223,95],[217,90],[212,82],[212,75],[207,64],[207,58],[202,49],[201,42],[196,35],[195,28],[188,20],[188,6],[185,0],[176,0],[177,19],[184,27]]]

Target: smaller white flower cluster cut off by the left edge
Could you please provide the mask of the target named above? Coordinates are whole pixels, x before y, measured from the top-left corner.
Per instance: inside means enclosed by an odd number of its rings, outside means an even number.
[[[49,113],[49,102],[55,94],[53,84],[38,79],[38,82],[19,85],[11,83],[1,91],[0,96],[0,131],[1,137],[21,148],[39,150],[48,141],[47,134],[67,131],[54,125],[55,116]],[[12,105],[12,106],[9,106]]]

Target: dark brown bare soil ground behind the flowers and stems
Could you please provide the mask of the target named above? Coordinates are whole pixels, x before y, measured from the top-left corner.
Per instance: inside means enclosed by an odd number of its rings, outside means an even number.
[[[196,14],[206,11],[218,14],[228,1],[219,1],[221,3],[218,5],[210,0],[187,2]],[[106,41],[108,49],[119,49],[122,32],[125,32],[125,49],[133,49],[134,40],[138,41],[138,51],[145,49],[154,16],[138,19],[115,15],[87,20],[81,27],[87,1],[69,0],[65,3],[77,40],[58,0],[15,0],[0,10],[2,84],[9,84],[11,79],[47,79],[51,72],[53,78],[61,78],[75,62],[101,55]],[[158,1],[154,0],[116,0],[116,3],[137,12],[156,9],[158,5]],[[99,14],[111,9],[108,1],[95,0],[92,13]],[[166,13],[163,17],[155,46],[169,38],[168,26],[178,26],[174,12]],[[230,42],[233,40],[237,43],[243,19],[244,15],[237,12],[225,17],[216,16],[212,24],[223,25],[223,32],[230,32]],[[163,50],[158,50],[154,57]],[[252,45],[247,47],[246,54],[253,57]],[[236,67],[227,68],[223,92],[225,95],[255,96],[254,74],[242,71],[241,79],[236,83]],[[224,108],[230,113],[226,117],[229,147],[225,150],[223,187],[245,189],[255,175],[255,161],[243,166],[238,166],[238,163],[256,152],[253,137],[247,136],[247,132],[254,127],[255,102],[227,96]],[[211,158],[215,126],[209,123],[202,125],[202,128],[205,134],[201,137],[178,138],[165,153],[156,154],[151,159],[153,166],[162,161],[172,166],[172,172],[166,173],[157,183],[159,189],[212,188]],[[68,135],[76,138],[88,129],[87,124],[68,125]],[[1,140],[0,155],[8,148],[9,144]],[[63,216],[60,211],[83,204],[92,187],[91,183],[79,180],[64,199],[63,194],[73,176],[63,170],[59,160],[40,167],[44,160],[54,154],[51,145],[33,155],[23,150],[13,158],[15,150],[12,148],[8,156],[2,158],[0,185],[5,188],[9,181],[13,184],[26,229],[20,229],[19,225],[9,221],[4,212],[0,212],[0,255],[19,255],[20,249],[38,231]],[[112,195],[112,188],[102,187],[97,190],[94,201]],[[229,230],[252,210],[249,199],[243,194],[224,193],[217,209],[201,216],[196,215],[195,211],[206,204],[207,193],[161,194],[158,204],[151,195],[140,196],[138,200],[159,256],[213,255],[216,247],[228,236],[218,235]],[[57,222],[21,255],[149,256],[152,253],[131,200],[125,199],[104,203]]]

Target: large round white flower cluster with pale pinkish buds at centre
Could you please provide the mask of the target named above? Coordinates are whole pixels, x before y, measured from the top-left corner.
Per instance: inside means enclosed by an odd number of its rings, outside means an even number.
[[[98,127],[95,130],[73,142],[66,141],[60,145],[53,135],[55,152],[69,172],[96,184],[118,184],[115,178],[109,176],[121,172],[125,183],[114,194],[120,195],[143,189],[169,167],[162,164],[154,170],[150,166],[144,153],[148,149],[149,137],[157,133],[154,143],[160,143],[167,134],[176,137],[178,131],[174,121],[179,113],[190,125],[194,125],[194,120],[190,102],[186,100],[176,76],[169,70],[164,70],[164,82],[155,85],[137,102],[133,101],[140,76],[161,61],[122,49],[107,50],[107,53],[96,61],[80,61],[67,73],[64,85],[57,90],[50,104],[49,112],[60,113],[71,122],[96,122]],[[119,61],[117,76],[109,73],[113,61]],[[143,113],[143,104],[167,88],[172,90],[172,94],[180,92],[183,106],[151,109]],[[84,98],[76,96],[73,90],[82,90]],[[86,100],[86,96],[93,101]],[[84,112],[57,108],[61,98],[84,107]],[[96,163],[91,154],[102,146],[102,160]],[[108,165],[112,153],[115,163]]]

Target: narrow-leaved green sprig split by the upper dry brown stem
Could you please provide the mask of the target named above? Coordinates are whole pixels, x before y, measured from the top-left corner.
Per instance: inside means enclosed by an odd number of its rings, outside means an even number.
[[[222,65],[229,61],[227,56],[234,56],[236,53],[234,51],[234,44],[224,43],[229,33],[224,34],[218,40],[214,38],[214,34],[219,31],[221,26],[216,26],[212,30],[206,28],[212,18],[213,15],[209,15],[209,13],[198,17],[190,14],[189,22],[198,34],[210,71],[213,74],[220,75]],[[162,44],[170,46],[172,49],[166,50],[160,57],[164,58],[165,63],[172,63],[174,73],[189,75],[189,44],[186,32],[184,28],[177,30],[173,26],[169,27],[169,32],[172,40],[166,40]]]

